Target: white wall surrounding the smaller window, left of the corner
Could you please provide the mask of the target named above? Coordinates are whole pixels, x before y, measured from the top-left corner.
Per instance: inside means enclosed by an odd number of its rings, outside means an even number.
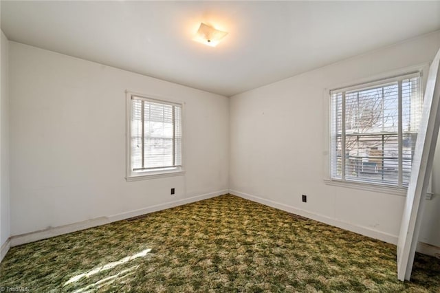
[[[227,192],[228,98],[20,43],[9,54],[11,235]],[[186,175],[126,182],[126,89],[185,102]]]

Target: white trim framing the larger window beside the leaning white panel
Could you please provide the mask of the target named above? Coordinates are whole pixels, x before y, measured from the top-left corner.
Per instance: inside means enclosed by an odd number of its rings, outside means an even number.
[[[389,79],[389,78],[395,78],[398,76],[404,76],[406,74],[413,74],[416,72],[420,73],[421,78],[421,95],[424,96],[426,82],[427,82],[427,73],[429,69],[429,63],[422,63],[415,66],[410,67],[404,67],[401,69],[393,70],[391,72],[385,72],[384,74],[377,74],[375,76],[371,76],[369,78],[362,78],[359,80],[353,80],[349,83],[342,83],[338,85],[334,85],[331,87],[327,87],[324,90],[324,171],[325,171],[325,177],[324,182],[327,185],[331,186],[340,186],[344,188],[354,188],[354,189],[360,189],[364,191],[373,191],[377,193],[387,193],[391,195],[400,195],[400,196],[406,196],[407,188],[401,188],[398,186],[386,186],[386,185],[379,185],[379,184],[369,184],[366,182],[351,182],[351,181],[343,181],[338,180],[335,178],[331,178],[331,123],[330,123],[330,117],[331,117],[331,91],[334,91],[336,89],[347,89],[350,87],[357,87],[359,85],[364,84],[372,84],[375,82],[380,82],[382,80]]]

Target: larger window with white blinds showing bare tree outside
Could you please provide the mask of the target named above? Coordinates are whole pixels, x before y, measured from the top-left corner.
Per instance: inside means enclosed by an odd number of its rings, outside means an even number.
[[[417,72],[331,94],[331,179],[406,188],[421,118]]]

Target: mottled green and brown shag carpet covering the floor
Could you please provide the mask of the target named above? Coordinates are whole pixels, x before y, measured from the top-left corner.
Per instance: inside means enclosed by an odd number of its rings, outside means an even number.
[[[11,248],[0,285],[30,292],[440,292],[440,260],[232,195]]]

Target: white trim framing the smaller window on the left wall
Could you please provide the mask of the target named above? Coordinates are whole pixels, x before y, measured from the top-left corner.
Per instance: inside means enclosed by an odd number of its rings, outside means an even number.
[[[140,94],[135,91],[129,91],[126,90],[126,133],[125,133],[125,140],[126,140],[126,177],[125,180],[127,182],[133,182],[133,181],[140,181],[140,180],[150,180],[150,179],[156,179],[156,178],[162,178],[162,177],[172,177],[172,176],[181,176],[185,175],[185,169],[184,169],[184,144],[185,144],[185,135],[184,135],[184,120],[185,120],[185,103],[179,100],[174,100],[171,98],[164,98],[161,96],[154,96],[154,95],[146,95],[146,94]],[[133,173],[131,171],[131,145],[130,145],[130,138],[131,138],[131,98],[132,96],[140,97],[140,98],[146,98],[148,100],[157,100],[158,102],[162,102],[164,104],[172,103],[172,104],[179,104],[181,105],[181,133],[182,133],[182,139],[181,139],[181,166],[174,167],[174,168],[164,168],[163,170],[152,170],[152,171],[144,171],[139,172],[137,174]]]

